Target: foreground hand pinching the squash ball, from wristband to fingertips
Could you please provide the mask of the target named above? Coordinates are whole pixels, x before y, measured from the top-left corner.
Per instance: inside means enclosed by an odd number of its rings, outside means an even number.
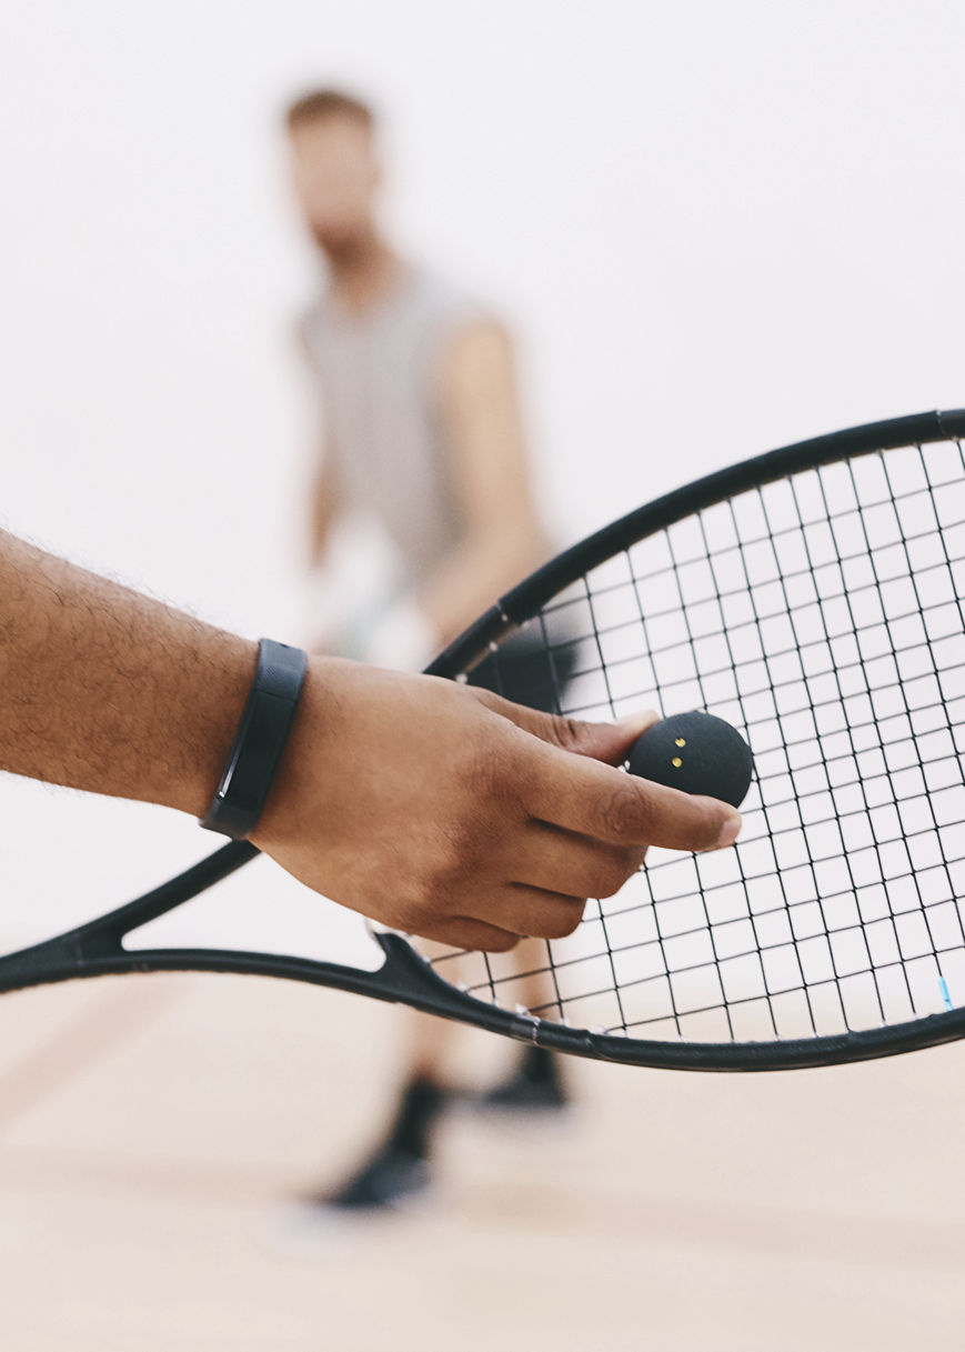
[[[655,721],[578,723],[488,691],[310,661],[253,842],[315,891],[461,948],[558,938],[649,845],[730,845],[741,818],[626,775]]]

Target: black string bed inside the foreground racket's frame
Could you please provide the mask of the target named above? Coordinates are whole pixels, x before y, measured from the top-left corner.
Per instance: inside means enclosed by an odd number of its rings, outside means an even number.
[[[542,979],[543,1017],[707,1041],[965,1006],[964,594],[947,441],[749,489],[554,598],[526,631],[555,707],[727,718],[757,761],[745,831],[719,856],[653,850],[522,965],[461,957],[468,988],[512,1006]]]

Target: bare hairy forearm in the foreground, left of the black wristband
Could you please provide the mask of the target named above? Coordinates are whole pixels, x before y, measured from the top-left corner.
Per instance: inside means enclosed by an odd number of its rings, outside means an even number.
[[[0,768],[203,815],[255,645],[0,533]]]

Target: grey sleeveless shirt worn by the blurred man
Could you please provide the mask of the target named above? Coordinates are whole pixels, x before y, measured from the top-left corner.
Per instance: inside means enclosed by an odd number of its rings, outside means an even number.
[[[481,314],[441,279],[405,265],[364,314],[326,293],[303,323],[339,500],[381,523],[408,585],[418,587],[462,534],[439,372],[447,339]]]

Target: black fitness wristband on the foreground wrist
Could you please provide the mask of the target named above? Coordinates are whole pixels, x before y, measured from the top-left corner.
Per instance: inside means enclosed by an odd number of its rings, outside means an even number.
[[[243,841],[258,825],[295,722],[308,658],[300,648],[262,638],[258,665],[234,745],[201,826]]]

